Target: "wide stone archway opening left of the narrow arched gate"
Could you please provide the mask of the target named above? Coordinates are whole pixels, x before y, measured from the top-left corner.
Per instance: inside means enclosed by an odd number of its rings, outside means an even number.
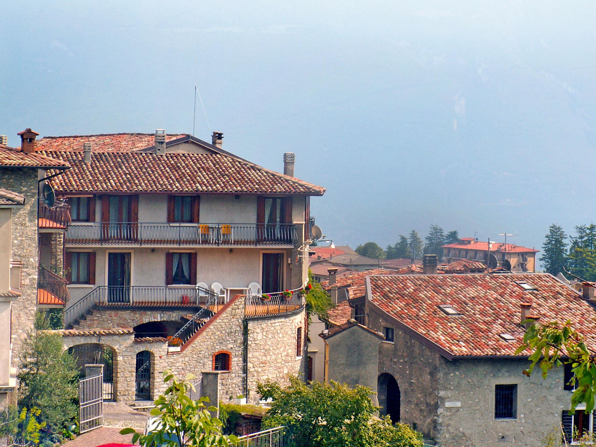
[[[69,353],[79,368],[79,376],[85,376],[85,365],[104,365],[103,396],[105,401],[113,401],[116,396],[116,350],[101,343],[82,343],[69,347]]]

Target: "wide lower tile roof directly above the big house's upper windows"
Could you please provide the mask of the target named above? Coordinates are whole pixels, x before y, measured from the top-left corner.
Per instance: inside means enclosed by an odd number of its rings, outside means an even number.
[[[44,152],[69,169],[51,180],[58,192],[188,192],[322,195],[325,188],[225,154]]]

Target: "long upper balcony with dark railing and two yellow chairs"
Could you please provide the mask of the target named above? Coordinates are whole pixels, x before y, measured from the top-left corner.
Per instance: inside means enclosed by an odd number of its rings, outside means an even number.
[[[168,224],[89,222],[69,226],[66,243],[77,246],[293,247],[294,224]]]

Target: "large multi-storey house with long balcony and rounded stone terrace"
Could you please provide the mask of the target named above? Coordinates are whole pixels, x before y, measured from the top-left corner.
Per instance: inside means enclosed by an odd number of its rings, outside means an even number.
[[[310,198],[294,154],[273,172],[187,134],[45,137],[63,235],[65,347],[105,365],[104,397],[134,403],[161,372],[219,371],[222,396],[305,373]],[[284,294],[284,291],[288,292]],[[263,296],[267,294],[268,296]],[[285,296],[287,295],[287,296]]]

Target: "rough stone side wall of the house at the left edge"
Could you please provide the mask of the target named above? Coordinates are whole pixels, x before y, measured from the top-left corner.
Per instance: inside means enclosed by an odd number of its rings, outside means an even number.
[[[18,365],[21,343],[33,327],[37,310],[37,169],[0,169],[0,188],[25,196],[23,207],[13,209],[12,259],[23,262],[22,294],[13,302],[13,365]]]

